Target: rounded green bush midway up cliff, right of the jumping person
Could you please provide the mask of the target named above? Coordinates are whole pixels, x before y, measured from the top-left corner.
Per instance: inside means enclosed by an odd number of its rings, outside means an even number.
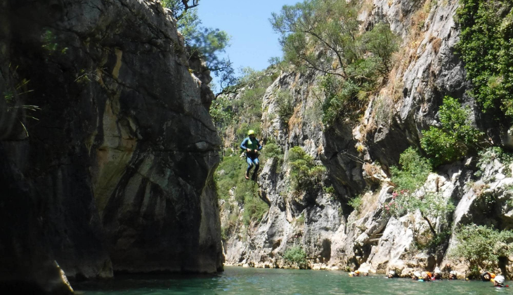
[[[313,157],[307,155],[301,147],[292,147],[287,158],[290,163],[292,190],[305,191],[318,187],[326,171],[322,165],[316,165]]]

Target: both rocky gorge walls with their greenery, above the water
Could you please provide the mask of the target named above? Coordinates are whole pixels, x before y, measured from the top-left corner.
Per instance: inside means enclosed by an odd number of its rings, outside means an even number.
[[[161,1],[0,0],[1,288],[71,294],[223,265],[475,275],[459,230],[512,230],[513,129],[507,54],[483,82],[467,2],[305,1],[353,13],[356,57],[304,46],[318,64],[285,58],[216,98]],[[490,31],[510,40],[512,7],[492,2]],[[434,150],[460,126],[475,147]],[[255,182],[238,147],[249,129],[264,143]],[[431,167],[415,190],[413,162]],[[511,277],[511,242],[486,267]]]

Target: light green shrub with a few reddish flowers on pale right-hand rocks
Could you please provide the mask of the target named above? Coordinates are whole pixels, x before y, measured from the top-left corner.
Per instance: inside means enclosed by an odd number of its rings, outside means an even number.
[[[424,183],[431,172],[431,164],[412,147],[408,147],[399,159],[401,169],[391,167],[391,181],[396,185],[392,200],[384,205],[391,215],[402,216],[408,212],[420,211],[420,215],[429,225],[436,238],[436,220],[443,221],[454,210],[454,205],[439,192],[427,190]]]

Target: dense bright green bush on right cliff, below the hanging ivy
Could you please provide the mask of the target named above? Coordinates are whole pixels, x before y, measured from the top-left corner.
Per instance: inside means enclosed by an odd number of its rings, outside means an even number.
[[[454,162],[467,152],[479,148],[483,133],[470,122],[469,107],[462,107],[455,98],[446,96],[440,107],[442,129],[431,126],[422,132],[420,143],[433,166]]]

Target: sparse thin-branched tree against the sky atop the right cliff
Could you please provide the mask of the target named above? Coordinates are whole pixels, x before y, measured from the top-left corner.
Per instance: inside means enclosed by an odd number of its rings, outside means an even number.
[[[271,15],[281,34],[285,60],[307,69],[346,78],[345,67],[357,58],[357,11],[353,1],[312,0],[283,6]]]

